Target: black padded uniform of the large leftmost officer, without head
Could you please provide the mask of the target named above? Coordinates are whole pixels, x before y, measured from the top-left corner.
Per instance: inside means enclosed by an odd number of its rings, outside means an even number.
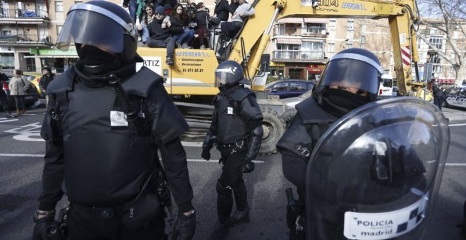
[[[155,172],[157,150],[179,212],[193,209],[186,153],[179,140],[188,125],[167,95],[162,78],[148,68],[138,73],[135,69],[130,64],[114,72],[121,76],[138,111],[134,126],[119,121],[122,109],[114,88],[89,80],[78,68],[68,69],[47,88],[51,100],[42,127],[47,152],[40,209],[54,209],[66,193],[73,239],[103,237],[102,232],[111,239],[163,239],[162,214],[140,231],[131,231],[121,222],[126,203],[138,196]],[[153,186],[145,189],[153,190]]]

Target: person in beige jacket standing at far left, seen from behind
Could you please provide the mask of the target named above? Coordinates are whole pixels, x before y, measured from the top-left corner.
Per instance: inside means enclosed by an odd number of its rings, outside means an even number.
[[[10,83],[8,83],[8,88],[10,88],[10,95],[15,98],[16,114],[19,115],[21,114],[21,112],[25,114],[26,113],[26,105],[24,102],[24,97],[26,95],[25,90],[30,88],[31,83],[29,82],[28,79],[21,76],[23,75],[23,71],[16,69],[14,73],[15,73],[15,76],[13,76],[13,78],[11,78],[10,80]]]

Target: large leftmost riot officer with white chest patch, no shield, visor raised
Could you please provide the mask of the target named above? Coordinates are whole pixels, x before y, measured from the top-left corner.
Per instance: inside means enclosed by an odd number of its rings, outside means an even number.
[[[33,239],[56,233],[50,226],[64,194],[71,239],[164,239],[162,207],[170,198],[159,190],[165,179],[179,208],[179,236],[192,238],[193,191],[179,139],[188,125],[162,77],[145,67],[136,72],[136,62],[143,61],[137,41],[133,20],[121,6],[89,1],[68,11],[56,47],[74,44],[79,61],[47,88],[41,131],[47,143]]]

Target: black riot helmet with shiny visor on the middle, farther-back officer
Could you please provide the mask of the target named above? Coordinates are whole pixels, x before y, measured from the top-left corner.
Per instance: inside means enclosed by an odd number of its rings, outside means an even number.
[[[215,85],[251,85],[249,80],[244,78],[243,68],[236,61],[224,61],[215,69]]]

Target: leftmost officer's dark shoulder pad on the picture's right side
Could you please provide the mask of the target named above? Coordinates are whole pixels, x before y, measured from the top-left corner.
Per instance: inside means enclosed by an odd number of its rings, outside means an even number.
[[[163,78],[154,71],[143,66],[141,70],[126,79],[121,85],[129,95],[147,97],[151,89],[157,85],[157,83],[163,83]]]

